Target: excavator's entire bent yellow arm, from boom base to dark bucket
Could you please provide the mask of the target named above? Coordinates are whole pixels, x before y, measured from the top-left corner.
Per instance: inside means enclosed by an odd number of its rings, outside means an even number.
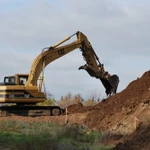
[[[75,41],[70,44],[61,45],[74,35],[77,36]],[[100,63],[87,37],[79,31],[56,45],[45,48],[42,53],[35,58],[26,86],[36,86],[40,74],[49,63],[78,48],[81,50],[86,61],[86,64],[79,67],[79,69],[85,69],[90,76],[100,79],[106,89],[107,95],[116,93],[119,77],[117,75],[111,76],[104,70],[103,64]]]

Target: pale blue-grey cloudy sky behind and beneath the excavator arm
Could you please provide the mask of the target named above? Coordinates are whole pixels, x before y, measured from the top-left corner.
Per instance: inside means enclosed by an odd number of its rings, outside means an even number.
[[[77,31],[92,44],[100,62],[120,79],[118,92],[150,70],[148,0],[0,0],[0,80],[29,73],[42,49]],[[105,89],[78,67],[79,49],[45,68],[45,87],[55,99],[71,92],[87,98]]]

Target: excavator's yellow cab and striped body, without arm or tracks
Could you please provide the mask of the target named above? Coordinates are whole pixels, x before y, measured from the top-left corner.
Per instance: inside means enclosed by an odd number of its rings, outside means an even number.
[[[30,104],[45,100],[45,94],[37,86],[26,86],[28,74],[4,77],[0,83],[0,103]]]

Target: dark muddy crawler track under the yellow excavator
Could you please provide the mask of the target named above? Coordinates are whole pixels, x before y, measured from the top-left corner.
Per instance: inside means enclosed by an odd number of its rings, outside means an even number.
[[[64,110],[58,106],[1,106],[0,116],[59,116]]]

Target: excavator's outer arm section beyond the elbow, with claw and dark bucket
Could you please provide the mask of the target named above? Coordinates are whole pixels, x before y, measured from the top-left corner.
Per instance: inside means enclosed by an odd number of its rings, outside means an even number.
[[[105,71],[104,64],[100,63],[98,56],[86,36],[82,34],[80,38],[84,41],[81,51],[86,64],[79,67],[79,70],[84,69],[90,76],[100,79],[105,87],[105,93],[107,96],[116,94],[119,84],[119,77],[116,74],[110,75],[107,71]]]

